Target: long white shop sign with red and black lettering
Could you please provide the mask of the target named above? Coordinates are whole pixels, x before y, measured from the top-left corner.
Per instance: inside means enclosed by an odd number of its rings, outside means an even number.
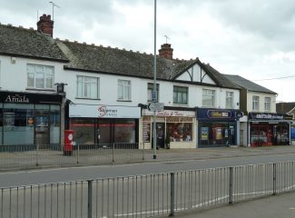
[[[70,104],[69,116],[85,118],[140,118],[141,108],[133,106]]]

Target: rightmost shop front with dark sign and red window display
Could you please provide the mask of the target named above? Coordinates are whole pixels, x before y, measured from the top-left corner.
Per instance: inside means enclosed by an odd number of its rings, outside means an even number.
[[[249,113],[251,146],[290,144],[291,120],[287,114]]]

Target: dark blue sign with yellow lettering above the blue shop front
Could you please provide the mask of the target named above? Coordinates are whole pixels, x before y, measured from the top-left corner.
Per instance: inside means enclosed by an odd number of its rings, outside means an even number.
[[[223,109],[197,109],[198,119],[236,120],[243,116],[241,111]]]

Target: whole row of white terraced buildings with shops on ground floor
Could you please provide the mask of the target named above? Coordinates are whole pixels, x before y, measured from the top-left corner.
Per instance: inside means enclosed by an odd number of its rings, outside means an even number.
[[[0,25],[0,146],[63,146],[73,130],[79,144],[151,148],[153,55],[53,38],[53,24]],[[295,105],[278,114],[277,93],[172,55],[170,44],[157,55],[158,146],[291,144]]]

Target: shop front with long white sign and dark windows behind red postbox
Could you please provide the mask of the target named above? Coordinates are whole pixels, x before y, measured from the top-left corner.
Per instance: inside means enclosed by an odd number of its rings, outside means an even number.
[[[141,108],[132,106],[70,104],[70,129],[74,143],[138,148]]]

